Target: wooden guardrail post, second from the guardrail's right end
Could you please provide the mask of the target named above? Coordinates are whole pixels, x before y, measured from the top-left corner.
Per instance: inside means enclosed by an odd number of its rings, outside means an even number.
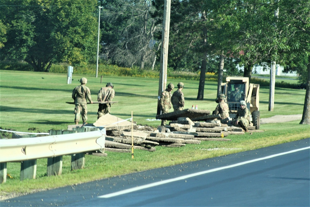
[[[50,135],[60,135],[62,130],[51,130]],[[47,176],[61,175],[62,173],[62,155],[47,158]]]

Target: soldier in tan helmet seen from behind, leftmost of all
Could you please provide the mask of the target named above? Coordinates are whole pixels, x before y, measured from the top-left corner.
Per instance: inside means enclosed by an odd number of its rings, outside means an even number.
[[[75,114],[75,119],[74,122],[75,124],[78,124],[80,121],[80,113],[82,113],[82,121],[83,124],[86,123],[87,120],[87,100],[89,100],[90,103],[93,103],[91,100],[91,91],[85,84],[87,83],[86,78],[81,78],[80,79],[81,85],[75,87],[72,91],[72,98],[75,103],[75,109],[74,109],[74,114]]]

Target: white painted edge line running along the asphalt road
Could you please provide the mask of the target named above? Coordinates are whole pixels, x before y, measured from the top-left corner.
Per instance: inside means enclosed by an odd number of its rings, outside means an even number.
[[[262,157],[262,158],[258,158],[258,159],[254,159],[254,160],[240,162],[240,163],[237,163],[237,164],[232,164],[232,165],[228,165],[228,166],[224,166],[224,167],[220,167],[220,168],[210,169],[210,170],[206,170],[206,171],[202,171],[202,172],[198,172],[198,173],[192,173],[192,174],[180,176],[180,177],[177,177],[177,178],[171,178],[171,179],[168,179],[168,180],[154,182],[154,183],[150,183],[150,184],[143,185],[143,186],[133,187],[133,188],[129,188],[129,189],[126,189],[126,190],[122,190],[122,191],[118,191],[118,192],[114,192],[114,193],[109,193],[109,194],[106,194],[106,195],[98,196],[98,198],[111,198],[111,197],[114,197],[114,196],[119,196],[119,195],[123,195],[123,194],[126,194],[126,193],[131,193],[131,192],[134,192],[134,191],[139,191],[139,190],[142,190],[142,189],[163,185],[163,184],[166,184],[166,183],[169,183],[169,182],[175,182],[175,181],[179,181],[179,180],[184,180],[186,178],[192,178],[192,177],[195,177],[195,176],[198,176],[198,175],[203,175],[203,174],[206,174],[206,173],[212,173],[212,172],[216,172],[216,171],[223,170],[223,169],[233,168],[233,167],[237,167],[237,166],[240,166],[240,165],[249,164],[249,163],[252,163],[252,162],[257,162],[257,161],[260,161],[260,160],[267,160],[267,159],[270,159],[270,158],[273,158],[273,157],[277,157],[277,156],[281,156],[281,155],[286,155],[286,154],[290,154],[290,153],[294,153],[294,152],[298,152],[298,151],[302,151],[302,150],[307,150],[307,149],[310,149],[310,146],[304,147],[304,148],[300,148],[300,149],[297,149],[297,150],[288,151],[288,152],[282,152],[282,153],[275,154],[275,155],[269,155],[267,157]]]

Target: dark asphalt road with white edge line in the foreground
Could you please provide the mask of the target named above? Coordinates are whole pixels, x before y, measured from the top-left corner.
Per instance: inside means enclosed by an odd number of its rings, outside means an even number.
[[[0,206],[310,206],[310,138],[2,201]]]

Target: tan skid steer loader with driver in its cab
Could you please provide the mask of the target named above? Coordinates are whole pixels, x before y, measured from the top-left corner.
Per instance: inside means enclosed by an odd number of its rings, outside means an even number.
[[[221,89],[226,96],[225,102],[229,107],[230,118],[236,116],[240,101],[246,101],[253,126],[259,129],[259,84],[249,83],[248,77],[227,77]]]

